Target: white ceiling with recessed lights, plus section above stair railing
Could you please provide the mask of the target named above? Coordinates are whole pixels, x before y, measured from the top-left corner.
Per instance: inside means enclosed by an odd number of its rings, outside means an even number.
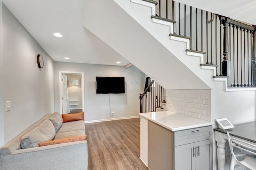
[[[253,15],[255,0],[177,1],[256,25]],[[2,2],[54,61],[122,66],[130,63],[83,27],[83,0],[2,0]],[[104,28],[104,25],[102,27]],[[63,37],[54,37],[55,32],[61,33]],[[64,57],[70,59],[66,60]],[[121,63],[117,64],[117,61]]]

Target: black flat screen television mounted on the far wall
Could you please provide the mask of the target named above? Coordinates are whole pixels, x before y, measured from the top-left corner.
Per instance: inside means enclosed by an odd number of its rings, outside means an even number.
[[[118,94],[124,91],[124,77],[96,77],[96,94]]]

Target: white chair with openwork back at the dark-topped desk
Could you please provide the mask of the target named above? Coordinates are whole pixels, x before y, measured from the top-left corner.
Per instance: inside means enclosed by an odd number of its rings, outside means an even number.
[[[256,145],[250,144],[248,142],[242,141],[240,139],[234,139],[228,135],[228,143],[230,147],[230,151],[232,154],[232,160],[230,164],[230,170],[234,170],[235,165],[240,165],[246,170],[256,170],[256,158],[248,155],[249,153],[252,155],[256,155]],[[234,148],[241,150],[242,154],[234,154]],[[239,156],[243,156],[242,160],[238,160]]]

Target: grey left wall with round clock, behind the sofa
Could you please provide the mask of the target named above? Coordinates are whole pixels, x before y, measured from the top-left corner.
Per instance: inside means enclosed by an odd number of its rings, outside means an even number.
[[[7,143],[54,111],[54,62],[4,5],[2,12],[4,102],[11,101],[4,112]],[[44,57],[42,70],[36,69],[37,54]]]

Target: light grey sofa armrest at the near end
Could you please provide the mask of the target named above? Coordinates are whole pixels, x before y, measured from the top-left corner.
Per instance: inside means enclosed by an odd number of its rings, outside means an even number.
[[[1,155],[1,170],[87,170],[87,141],[15,150]]]

